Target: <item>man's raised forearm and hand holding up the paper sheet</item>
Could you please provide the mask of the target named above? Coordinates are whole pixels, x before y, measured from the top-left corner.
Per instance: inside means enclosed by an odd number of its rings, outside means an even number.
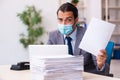
[[[92,56],[94,64],[96,65],[97,74],[108,75],[109,74],[109,64],[106,62],[107,54],[104,49],[101,49],[98,56]]]

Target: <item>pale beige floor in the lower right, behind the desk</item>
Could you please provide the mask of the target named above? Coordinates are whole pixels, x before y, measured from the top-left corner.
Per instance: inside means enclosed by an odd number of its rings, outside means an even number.
[[[120,78],[120,59],[111,60],[110,73],[114,74],[114,77]]]

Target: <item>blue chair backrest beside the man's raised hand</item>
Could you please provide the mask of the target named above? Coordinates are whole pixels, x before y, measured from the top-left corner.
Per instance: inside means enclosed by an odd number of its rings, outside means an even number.
[[[107,53],[107,62],[110,65],[111,63],[111,57],[114,49],[114,42],[109,41],[106,47],[106,53]]]

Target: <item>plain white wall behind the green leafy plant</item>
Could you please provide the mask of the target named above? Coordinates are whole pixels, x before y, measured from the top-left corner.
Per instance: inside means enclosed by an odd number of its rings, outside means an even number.
[[[16,16],[26,5],[42,10],[42,25],[47,31],[56,28],[57,0],[0,0],[0,64],[29,60],[28,51],[19,42],[19,34],[26,32],[26,26]]]

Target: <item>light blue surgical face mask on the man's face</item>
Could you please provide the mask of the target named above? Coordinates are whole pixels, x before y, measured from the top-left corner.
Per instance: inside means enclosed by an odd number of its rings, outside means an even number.
[[[70,24],[70,25],[58,24],[58,29],[64,35],[70,34],[73,30],[72,24]]]

